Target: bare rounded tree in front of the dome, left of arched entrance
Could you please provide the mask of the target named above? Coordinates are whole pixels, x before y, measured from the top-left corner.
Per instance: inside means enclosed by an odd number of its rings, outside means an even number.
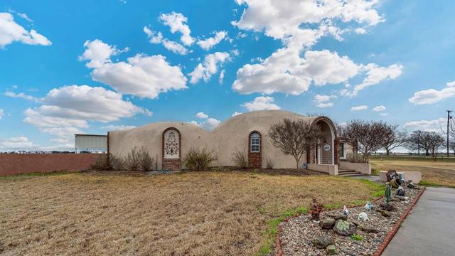
[[[318,125],[311,122],[285,118],[283,122],[272,124],[269,137],[272,144],[281,149],[283,154],[294,156],[296,168],[299,169],[301,156],[322,138],[322,132]]]

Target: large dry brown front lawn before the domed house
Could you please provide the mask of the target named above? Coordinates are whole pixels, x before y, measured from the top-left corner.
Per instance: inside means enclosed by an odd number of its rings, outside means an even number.
[[[0,254],[255,255],[284,210],[373,191],[348,178],[236,171],[0,178]]]

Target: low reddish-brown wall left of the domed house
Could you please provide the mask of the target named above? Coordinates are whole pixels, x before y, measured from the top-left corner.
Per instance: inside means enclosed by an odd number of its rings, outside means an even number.
[[[83,171],[103,154],[0,154],[0,176],[33,172]]]

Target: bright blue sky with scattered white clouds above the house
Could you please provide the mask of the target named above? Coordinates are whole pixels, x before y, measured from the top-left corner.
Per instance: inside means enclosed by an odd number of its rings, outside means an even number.
[[[1,1],[0,149],[70,149],[75,132],[165,120],[213,129],[264,109],[439,130],[455,109],[454,9]]]

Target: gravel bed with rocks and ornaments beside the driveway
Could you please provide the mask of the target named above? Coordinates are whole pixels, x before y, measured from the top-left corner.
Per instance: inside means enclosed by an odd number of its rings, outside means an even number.
[[[336,255],[373,255],[387,233],[392,230],[402,213],[417,196],[419,189],[405,188],[405,193],[409,198],[407,201],[390,202],[396,207],[396,210],[390,212],[392,213],[390,217],[383,217],[375,210],[380,203],[383,203],[382,199],[373,203],[374,209],[370,211],[365,210],[363,206],[349,208],[348,221],[379,230],[379,233],[366,233],[357,228],[355,233],[361,235],[363,240],[353,240],[349,236],[338,235],[333,229],[324,230],[319,227],[319,223],[310,220],[309,215],[291,218],[288,222],[282,223],[282,232],[279,236],[284,255],[327,255],[326,249],[318,249],[313,244],[313,241],[322,235],[328,235],[333,239],[338,250]],[[395,189],[392,189],[392,195],[395,195]],[[358,220],[358,215],[362,212],[368,214],[369,220],[365,222]],[[343,210],[324,211],[321,213],[321,219],[328,215],[343,215]]]

